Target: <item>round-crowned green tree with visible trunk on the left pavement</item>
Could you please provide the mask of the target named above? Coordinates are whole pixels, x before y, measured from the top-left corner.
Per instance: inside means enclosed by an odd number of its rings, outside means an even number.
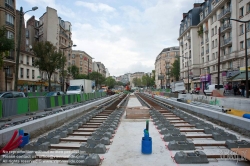
[[[51,76],[61,69],[63,54],[49,41],[37,42],[33,46],[34,55],[37,57],[35,66],[41,71],[45,71],[49,79],[49,91],[51,91]]]

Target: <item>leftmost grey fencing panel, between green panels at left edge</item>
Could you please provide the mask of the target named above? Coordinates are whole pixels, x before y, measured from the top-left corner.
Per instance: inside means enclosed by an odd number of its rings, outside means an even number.
[[[17,115],[17,100],[16,99],[3,99],[3,117]]]

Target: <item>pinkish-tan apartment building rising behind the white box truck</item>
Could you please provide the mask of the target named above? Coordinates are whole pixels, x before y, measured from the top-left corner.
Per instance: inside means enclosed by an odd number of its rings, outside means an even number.
[[[79,68],[79,74],[88,75],[92,72],[92,57],[84,51],[72,50],[68,57],[68,66],[75,65]]]

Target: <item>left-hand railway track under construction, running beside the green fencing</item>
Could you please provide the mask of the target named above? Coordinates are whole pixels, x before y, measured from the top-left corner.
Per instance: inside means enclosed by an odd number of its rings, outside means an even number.
[[[85,115],[57,128],[22,149],[6,153],[3,163],[67,163],[99,165],[124,113],[127,96],[102,103]],[[117,105],[120,107],[117,108]]]

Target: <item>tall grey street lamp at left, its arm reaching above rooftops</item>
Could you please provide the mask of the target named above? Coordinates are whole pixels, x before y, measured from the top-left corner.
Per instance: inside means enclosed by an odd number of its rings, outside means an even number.
[[[19,71],[19,56],[20,56],[20,46],[21,46],[21,33],[22,33],[22,24],[23,24],[23,16],[25,13],[30,11],[37,10],[38,7],[33,7],[31,10],[23,12],[23,7],[20,7],[20,22],[19,22],[19,32],[18,32],[18,45],[17,45],[17,56],[16,56],[16,73],[15,73],[15,91],[17,91],[17,83],[18,83],[18,71]]]

